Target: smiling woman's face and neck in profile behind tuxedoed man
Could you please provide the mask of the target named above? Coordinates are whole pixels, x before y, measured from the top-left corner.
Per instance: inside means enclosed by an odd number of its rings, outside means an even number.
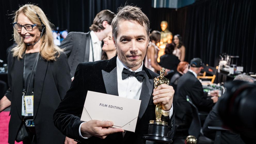
[[[117,55],[114,46],[112,31],[108,33],[107,37],[103,39],[101,60],[109,60]]]

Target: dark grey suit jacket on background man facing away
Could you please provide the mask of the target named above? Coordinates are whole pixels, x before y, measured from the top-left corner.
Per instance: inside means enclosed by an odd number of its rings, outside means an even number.
[[[89,61],[90,42],[90,31],[87,33],[70,32],[61,42],[60,48],[65,49],[68,56],[71,77],[75,75],[79,63]]]

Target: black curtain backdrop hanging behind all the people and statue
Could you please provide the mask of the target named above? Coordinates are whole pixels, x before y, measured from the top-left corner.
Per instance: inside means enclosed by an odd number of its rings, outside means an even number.
[[[19,5],[36,3],[47,18],[60,29],[89,31],[95,15],[104,9],[117,12],[121,5],[134,4],[149,17],[152,30],[160,22],[169,22],[169,30],[182,36],[186,47],[185,60],[202,58],[204,63],[217,66],[220,53],[238,55],[238,65],[245,72],[256,72],[256,1],[254,0],[197,0],[180,8],[152,8],[151,0],[12,0],[1,1],[0,59],[6,61],[6,49],[12,42],[12,14]]]

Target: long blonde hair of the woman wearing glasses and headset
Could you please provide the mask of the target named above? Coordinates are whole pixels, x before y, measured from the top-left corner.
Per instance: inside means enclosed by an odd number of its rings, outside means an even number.
[[[56,61],[56,58],[60,56],[60,53],[62,53],[63,50],[60,49],[58,46],[54,45],[52,36],[52,28],[54,25],[47,19],[41,8],[33,4],[25,4],[15,12],[13,22],[17,22],[18,15],[22,13],[26,17],[28,17],[28,19],[32,23],[37,24],[39,30],[42,32],[42,24],[35,12],[39,15],[43,24],[45,25],[44,34],[41,38],[42,43],[40,47],[40,55],[43,59],[47,61]],[[22,55],[25,53],[27,45],[23,42],[23,37],[20,36],[15,28],[13,28],[13,37],[15,42],[18,44],[12,49],[13,57],[18,57],[18,59],[22,59]]]

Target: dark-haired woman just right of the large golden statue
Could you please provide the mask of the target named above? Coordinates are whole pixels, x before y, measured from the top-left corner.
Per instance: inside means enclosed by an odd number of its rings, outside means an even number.
[[[173,43],[175,45],[173,54],[176,55],[180,61],[185,60],[186,48],[182,43],[182,37],[177,34],[173,37]]]

